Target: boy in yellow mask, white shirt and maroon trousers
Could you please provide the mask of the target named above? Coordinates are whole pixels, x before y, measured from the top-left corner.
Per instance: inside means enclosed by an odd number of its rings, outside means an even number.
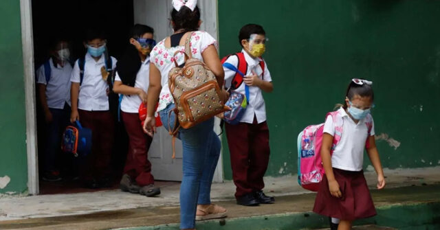
[[[269,162],[269,129],[261,91],[272,92],[272,78],[265,60],[265,31],[261,25],[249,24],[241,28],[241,52],[223,58],[238,69],[227,67],[225,87],[246,95],[248,105],[239,124],[225,123],[231,156],[232,178],[236,185],[235,198],[239,205],[255,206],[274,203],[274,198],[263,193],[263,176]]]

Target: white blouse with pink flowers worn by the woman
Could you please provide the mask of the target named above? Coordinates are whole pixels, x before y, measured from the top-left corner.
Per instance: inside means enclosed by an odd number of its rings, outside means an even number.
[[[165,38],[166,39],[166,38]],[[165,39],[157,43],[150,54],[151,63],[159,69],[162,84],[162,91],[159,95],[159,106],[157,107],[157,112],[162,111],[168,104],[174,103],[173,96],[170,93],[170,88],[168,87],[168,73],[171,68],[175,67],[174,60],[178,65],[184,63],[184,54],[177,54],[174,56],[175,51],[185,51],[184,45],[178,45],[176,47],[165,47]],[[210,45],[214,45],[218,49],[218,44],[215,39],[208,34],[208,32],[195,31],[192,32],[190,38],[190,47],[192,52],[192,57],[203,61],[201,54]]]

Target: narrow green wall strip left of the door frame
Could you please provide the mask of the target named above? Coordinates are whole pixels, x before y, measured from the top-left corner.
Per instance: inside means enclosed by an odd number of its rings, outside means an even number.
[[[0,1],[0,180],[10,183],[5,192],[28,188],[26,158],[25,91],[21,49],[20,1]]]

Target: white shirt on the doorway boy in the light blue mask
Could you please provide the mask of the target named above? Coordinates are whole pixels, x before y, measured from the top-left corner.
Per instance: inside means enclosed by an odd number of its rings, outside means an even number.
[[[112,69],[116,67],[116,58],[112,60]],[[109,85],[102,79],[101,67],[105,67],[104,54],[98,61],[95,61],[89,53],[85,55],[84,78],[80,85],[78,96],[78,108],[84,111],[108,111],[109,97],[107,90]],[[71,82],[80,83],[80,67],[78,60],[75,62],[72,71]]]

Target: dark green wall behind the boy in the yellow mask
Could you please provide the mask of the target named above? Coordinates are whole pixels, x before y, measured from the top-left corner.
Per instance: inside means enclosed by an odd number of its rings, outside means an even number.
[[[343,102],[351,78],[374,82],[376,134],[392,138],[377,141],[384,167],[440,165],[440,1],[218,2],[221,56],[241,49],[238,34],[246,23],[263,25],[270,39],[266,176],[296,174],[298,133]],[[223,140],[225,178],[231,179]]]

